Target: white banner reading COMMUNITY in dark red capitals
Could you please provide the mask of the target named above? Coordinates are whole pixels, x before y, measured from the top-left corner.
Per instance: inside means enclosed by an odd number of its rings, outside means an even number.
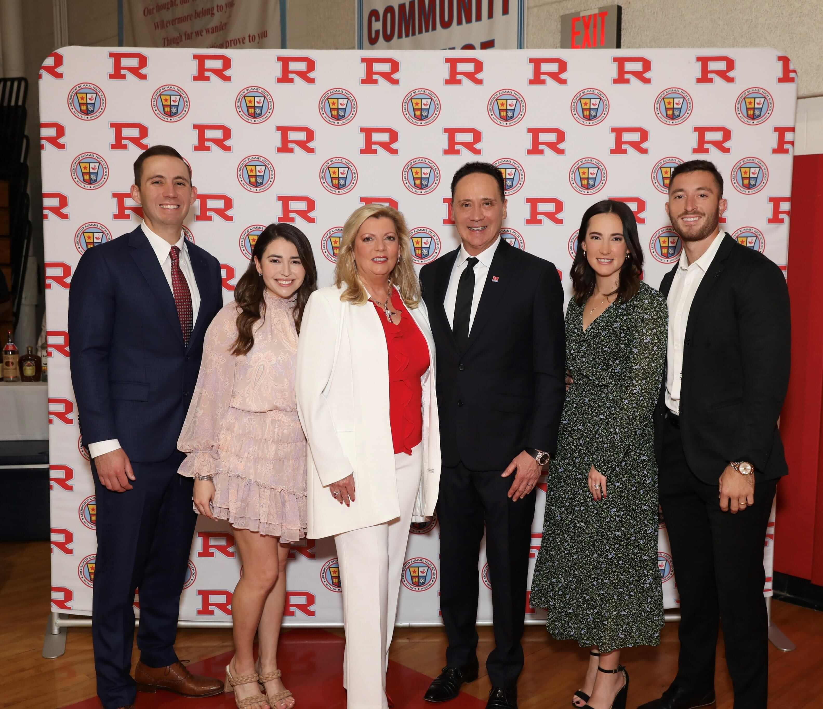
[[[526,0],[357,0],[357,49],[524,49]]]

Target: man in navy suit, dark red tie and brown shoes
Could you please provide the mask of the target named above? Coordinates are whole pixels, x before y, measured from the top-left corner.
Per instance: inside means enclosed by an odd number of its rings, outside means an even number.
[[[92,638],[104,709],[131,707],[136,689],[220,693],[174,654],[180,593],[196,515],[193,480],[177,474],[177,438],[192,398],[203,337],[222,307],[216,258],[183,237],[197,197],[191,169],[169,146],[134,163],[142,225],[90,248],[68,300],[72,385],[97,502]],[[140,590],[140,661],[129,675],[133,600]]]

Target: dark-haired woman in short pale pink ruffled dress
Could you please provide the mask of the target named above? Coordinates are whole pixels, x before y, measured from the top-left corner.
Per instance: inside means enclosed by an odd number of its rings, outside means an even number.
[[[288,544],[306,528],[306,442],[297,417],[295,358],[317,270],[308,239],[291,225],[267,226],[252,253],[235,302],[217,313],[206,333],[177,443],[188,453],[179,473],[195,478],[197,512],[234,527],[243,562],[232,601],[235,656],[226,667],[226,691],[234,690],[244,709],[291,709],[295,699],[277,670],[277,641]]]

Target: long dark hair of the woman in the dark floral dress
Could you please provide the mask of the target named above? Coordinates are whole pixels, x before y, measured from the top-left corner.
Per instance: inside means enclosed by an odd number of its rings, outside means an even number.
[[[623,224],[623,239],[627,249],[626,259],[620,270],[620,283],[616,295],[622,301],[630,300],[640,288],[640,274],[643,272],[643,249],[640,248],[640,239],[637,234],[635,213],[625,202],[613,199],[604,199],[590,206],[583,215],[578,232],[577,253],[571,265],[571,282],[574,286],[574,302],[583,305],[586,299],[594,292],[596,274],[586,258],[586,252],[581,245],[588,234],[588,222],[597,214],[616,214]]]

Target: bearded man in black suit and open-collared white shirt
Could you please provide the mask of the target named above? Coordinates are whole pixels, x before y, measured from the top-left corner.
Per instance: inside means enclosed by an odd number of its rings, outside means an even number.
[[[788,288],[778,266],[718,228],[726,200],[712,163],[674,169],[666,208],[683,251],[660,288],[669,334],[654,423],[681,646],[674,682],[641,709],[714,704],[720,619],[735,709],[765,709],[763,544],[774,489],[788,472],[778,430]]]

